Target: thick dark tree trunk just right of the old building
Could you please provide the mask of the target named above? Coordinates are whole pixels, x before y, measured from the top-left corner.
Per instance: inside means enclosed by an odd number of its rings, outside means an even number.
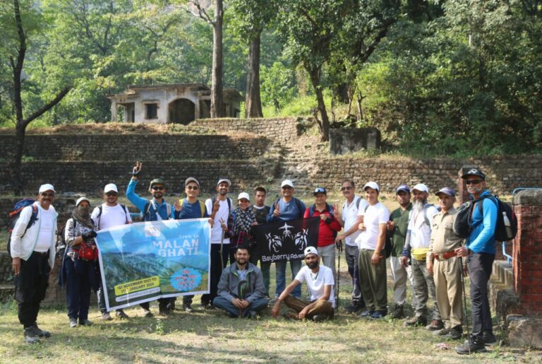
[[[260,99],[260,35],[261,33],[258,33],[248,46],[245,117],[263,117]]]

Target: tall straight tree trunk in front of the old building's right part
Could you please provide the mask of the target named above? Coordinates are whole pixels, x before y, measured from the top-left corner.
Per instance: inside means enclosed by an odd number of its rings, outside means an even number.
[[[224,117],[222,89],[224,62],[222,60],[222,23],[224,11],[222,0],[215,1],[215,22],[212,24],[212,81],[211,81],[211,117]]]

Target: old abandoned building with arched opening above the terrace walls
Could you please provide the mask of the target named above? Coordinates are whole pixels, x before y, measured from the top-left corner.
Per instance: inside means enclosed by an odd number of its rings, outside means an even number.
[[[129,86],[124,93],[107,95],[111,100],[111,120],[135,123],[188,124],[195,119],[210,117],[211,90],[202,83]],[[239,117],[240,102],[237,90],[223,91],[226,117]]]

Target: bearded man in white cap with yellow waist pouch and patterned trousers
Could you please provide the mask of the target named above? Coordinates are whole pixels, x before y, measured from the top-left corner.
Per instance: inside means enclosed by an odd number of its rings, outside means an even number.
[[[409,217],[409,227],[406,230],[405,249],[401,262],[407,266],[409,250],[411,249],[412,275],[414,276],[414,292],[416,293],[415,315],[404,322],[405,326],[426,326],[427,325],[427,300],[429,295],[434,300],[433,319],[427,326],[429,330],[440,330],[444,327],[438,310],[437,298],[435,295],[435,281],[433,274],[430,274],[426,267],[426,257],[429,250],[431,236],[431,219],[438,213],[438,209],[428,204],[429,188],[418,183],[412,188],[414,203]]]

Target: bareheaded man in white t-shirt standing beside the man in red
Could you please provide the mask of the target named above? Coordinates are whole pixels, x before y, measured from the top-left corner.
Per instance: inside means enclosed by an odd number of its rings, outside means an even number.
[[[336,241],[338,244],[342,241],[345,243],[344,256],[347,258],[348,273],[352,277],[352,302],[345,310],[349,313],[354,313],[359,312],[365,307],[365,302],[361,296],[361,289],[359,288],[359,248],[356,244],[356,237],[360,233],[358,226],[363,223],[363,215],[359,215],[358,212],[365,211],[368,204],[365,199],[356,196],[354,181],[344,180],[341,192],[347,200],[342,204],[341,214],[336,215],[344,231],[342,234],[337,235]],[[337,209],[338,211],[339,209]]]

